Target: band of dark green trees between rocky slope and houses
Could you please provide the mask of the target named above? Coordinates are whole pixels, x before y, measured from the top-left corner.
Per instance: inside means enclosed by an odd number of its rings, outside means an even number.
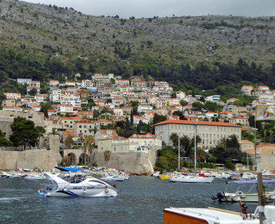
[[[139,63],[122,65],[118,61],[109,63],[80,57],[63,61],[50,54],[0,50],[0,81],[3,91],[16,90],[13,82],[20,77],[42,82],[48,79],[62,81],[65,75],[74,79],[74,74],[80,73],[80,79],[90,79],[94,72],[102,73],[106,68],[124,79],[142,74],[145,79],[153,77],[156,80],[168,81],[175,90],[212,90],[211,94],[225,95],[228,92],[236,93],[236,88],[241,88],[244,84],[265,84],[275,88],[275,63],[272,63],[270,68],[263,68],[253,62],[248,64],[242,59],[237,63],[228,64],[168,64],[161,59],[144,57]]]

